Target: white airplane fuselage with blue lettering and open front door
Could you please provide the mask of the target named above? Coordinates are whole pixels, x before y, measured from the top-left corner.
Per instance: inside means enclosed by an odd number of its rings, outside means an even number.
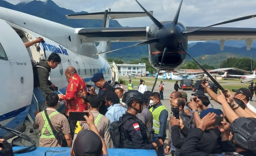
[[[16,128],[25,120],[33,94],[33,70],[26,41],[43,37],[40,51],[31,46],[34,60],[47,59],[52,52],[61,57],[61,64],[51,70],[50,80],[65,94],[68,85],[65,69],[74,66],[86,84],[92,84],[92,76],[102,72],[106,81],[112,80],[110,65],[97,52],[94,43],[86,42],[86,37],[77,35],[79,28],[71,28],[59,23],[41,19],[22,12],[0,7],[0,124]],[[19,34],[18,34],[19,33]],[[106,44],[98,50],[106,51]],[[1,48],[2,47],[2,48]],[[45,55],[44,51],[45,49]],[[3,57],[5,56],[6,57]],[[7,134],[0,129],[0,138]]]

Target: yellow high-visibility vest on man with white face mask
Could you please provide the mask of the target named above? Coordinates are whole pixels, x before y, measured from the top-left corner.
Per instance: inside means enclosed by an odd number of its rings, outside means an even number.
[[[159,106],[153,111],[153,107],[149,109],[153,115],[153,129],[155,130],[155,134],[159,134],[160,130],[160,120],[159,116],[162,110],[167,110],[165,106]],[[166,134],[166,131],[164,131],[164,134]]]

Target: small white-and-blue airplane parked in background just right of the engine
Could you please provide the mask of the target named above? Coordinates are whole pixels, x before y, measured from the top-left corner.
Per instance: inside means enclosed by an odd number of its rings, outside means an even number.
[[[155,78],[157,77],[157,73],[155,73]],[[170,73],[164,73],[164,75],[159,75],[158,78],[162,78],[163,80],[181,80],[181,79],[193,79],[196,78],[196,75],[187,75],[187,74],[173,74],[173,72]]]

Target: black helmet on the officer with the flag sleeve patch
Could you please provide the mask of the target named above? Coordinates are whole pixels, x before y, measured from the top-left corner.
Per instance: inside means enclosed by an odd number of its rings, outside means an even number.
[[[132,90],[132,91],[125,92],[125,94],[123,95],[122,102],[129,104],[131,100],[138,100],[140,102],[144,102],[145,99],[143,97],[143,94],[139,91]],[[140,103],[140,104],[143,104],[143,103]]]

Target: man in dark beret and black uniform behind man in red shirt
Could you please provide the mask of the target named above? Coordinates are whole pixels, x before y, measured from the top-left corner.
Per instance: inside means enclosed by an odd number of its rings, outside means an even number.
[[[102,101],[102,105],[99,107],[99,113],[105,115],[107,112],[107,107],[104,105],[106,94],[107,92],[114,92],[114,89],[107,81],[105,81],[103,73],[94,74],[91,81],[99,88],[98,95]],[[79,92],[77,93],[77,96],[83,96],[83,99],[88,102],[88,96],[86,96],[85,93]]]

